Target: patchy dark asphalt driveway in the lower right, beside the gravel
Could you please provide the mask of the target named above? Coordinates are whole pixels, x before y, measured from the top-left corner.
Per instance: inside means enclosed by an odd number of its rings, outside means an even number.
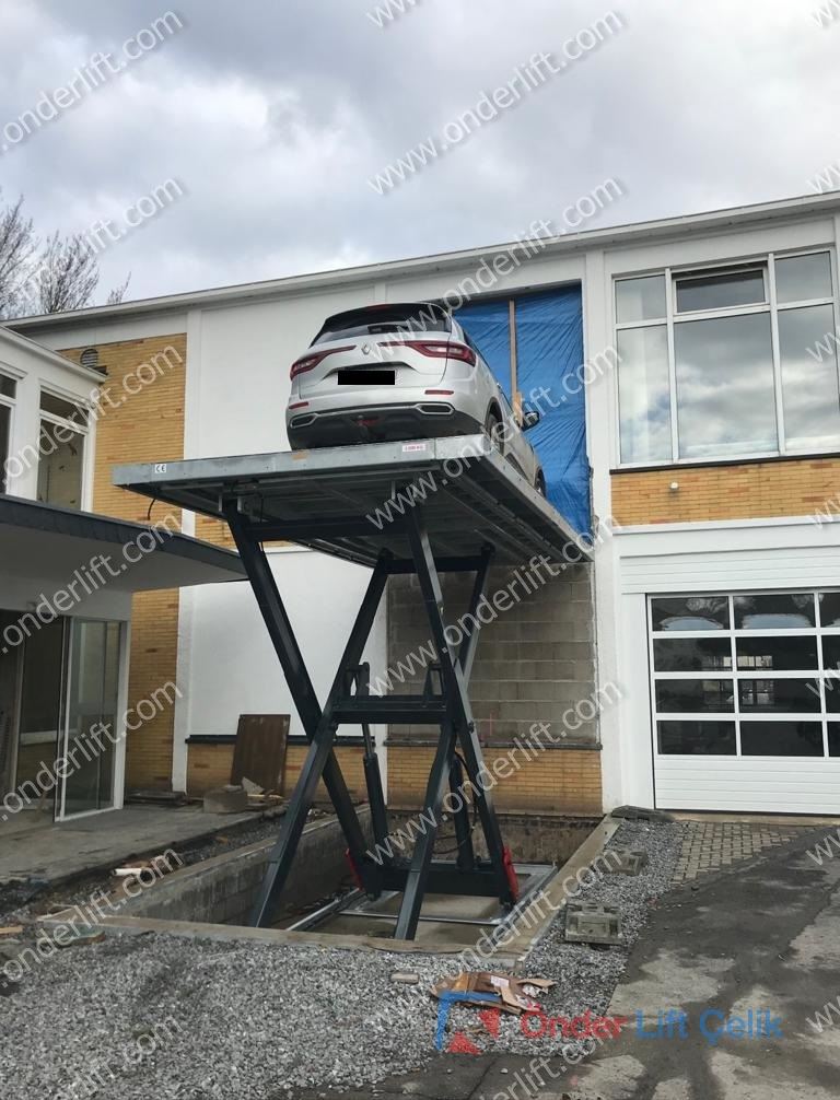
[[[610,1005],[629,1023],[580,1064],[541,1058],[538,1044],[533,1058],[445,1055],[377,1092],[434,1100],[837,1100],[840,843],[821,861],[809,855],[830,835],[833,828],[803,831],[662,899]]]

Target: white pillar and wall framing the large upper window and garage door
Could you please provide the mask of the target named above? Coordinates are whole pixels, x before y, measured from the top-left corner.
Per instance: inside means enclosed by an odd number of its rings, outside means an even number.
[[[731,262],[770,251],[836,246],[838,239],[840,220],[827,216],[799,222],[764,224],[755,229],[734,228],[731,232],[706,237],[697,234],[665,243],[590,251],[587,253],[583,295],[586,356],[591,359],[614,343],[612,286],[617,276],[645,274],[667,266]],[[592,507],[597,516],[607,520],[611,517],[611,471],[619,462],[618,425],[618,378],[612,372],[587,387],[587,439],[593,469]],[[699,524],[684,524],[677,528],[657,525],[646,529],[645,546],[652,560],[656,561],[648,576],[651,587],[647,591],[673,591],[675,560],[659,559],[658,554],[670,553],[669,548],[674,546],[677,532],[683,532],[680,546],[697,550],[700,560],[706,561],[707,553],[719,553],[721,542],[716,531],[729,529],[728,525],[711,525],[709,531],[702,528],[703,525]],[[766,578],[761,579],[761,571],[770,568],[764,552],[778,546],[774,541],[777,528],[772,520],[762,520],[748,525],[745,529],[751,531],[753,548],[762,551],[756,559],[760,569],[752,586],[766,586]],[[816,528],[805,525],[801,530],[812,536]],[[632,593],[623,590],[625,559],[635,553],[639,546],[636,537],[608,536],[596,551],[594,559],[599,683],[601,686],[614,683],[625,694],[624,703],[601,716],[601,781],[606,810],[622,803],[653,804],[644,594],[642,590]],[[812,548],[814,542],[809,546]],[[803,560],[809,560],[807,551],[803,550]],[[723,561],[721,558],[714,560]],[[688,587],[694,588],[697,584],[701,582],[696,580]],[[720,588],[737,586],[734,579],[731,584],[718,582]]]

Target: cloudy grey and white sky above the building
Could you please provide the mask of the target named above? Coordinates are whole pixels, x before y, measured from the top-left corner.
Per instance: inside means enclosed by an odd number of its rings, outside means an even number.
[[[380,26],[388,3],[406,11]],[[609,11],[580,59],[370,185]],[[806,194],[840,163],[838,0],[2,0],[1,19],[4,198],[42,233],[120,227],[100,298],[129,271],[139,298],[511,240],[609,178],[623,194],[591,227]]]

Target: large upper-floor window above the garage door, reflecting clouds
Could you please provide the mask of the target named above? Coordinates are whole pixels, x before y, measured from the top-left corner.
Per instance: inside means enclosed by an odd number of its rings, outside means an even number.
[[[622,463],[840,449],[831,254],[615,283]]]

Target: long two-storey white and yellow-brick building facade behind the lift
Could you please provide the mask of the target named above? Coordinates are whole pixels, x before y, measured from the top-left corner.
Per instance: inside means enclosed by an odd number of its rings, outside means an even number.
[[[436,299],[474,317],[501,302],[506,354],[491,365],[509,395],[554,425],[579,405],[594,551],[482,637],[472,695],[488,755],[536,723],[556,734],[499,783],[500,805],[840,813],[839,238],[840,199],[826,195],[17,328],[76,362],[96,358],[118,397],[139,364],[168,355],[99,420],[97,463],[110,465],[285,449],[288,369],[330,314]],[[575,287],[568,339],[553,342],[549,318],[527,358],[534,296]],[[532,385],[533,364],[547,386]],[[107,479],[100,494],[105,510],[144,516]],[[201,517],[183,526],[230,544]],[[323,697],[364,570],[290,547],[270,558]],[[423,645],[412,596],[392,585],[367,654],[374,678]],[[229,771],[238,715],[288,713],[291,700],[244,586],[149,598],[160,602],[135,616],[129,691],[171,674],[182,697],[171,723],[129,740],[128,782],[200,792]],[[454,584],[452,605],[462,598]],[[294,714],[292,735],[290,780],[303,754]],[[377,739],[391,804],[418,804],[426,733]],[[341,754],[361,790],[352,735]]]

